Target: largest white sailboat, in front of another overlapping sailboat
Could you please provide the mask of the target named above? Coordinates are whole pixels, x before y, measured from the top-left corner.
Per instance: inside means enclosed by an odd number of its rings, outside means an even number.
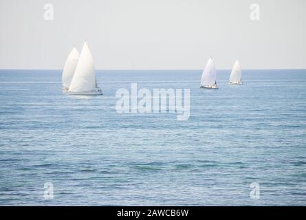
[[[69,86],[69,95],[102,95],[102,89],[98,87],[94,59],[85,41],[78,65]]]

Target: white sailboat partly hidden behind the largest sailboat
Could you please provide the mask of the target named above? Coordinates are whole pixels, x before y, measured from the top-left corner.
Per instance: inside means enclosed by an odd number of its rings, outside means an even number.
[[[63,92],[67,92],[70,84],[72,83],[72,78],[74,77],[74,71],[76,70],[76,65],[78,64],[78,58],[80,54],[76,47],[70,52],[65,67],[63,69],[62,82],[63,82]]]

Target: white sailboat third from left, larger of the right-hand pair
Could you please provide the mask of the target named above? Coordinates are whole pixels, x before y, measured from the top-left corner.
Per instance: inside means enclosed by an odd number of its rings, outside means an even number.
[[[217,72],[214,61],[209,58],[206,67],[201,76],[201,88],[204,89],[218,89],[217,86]]]

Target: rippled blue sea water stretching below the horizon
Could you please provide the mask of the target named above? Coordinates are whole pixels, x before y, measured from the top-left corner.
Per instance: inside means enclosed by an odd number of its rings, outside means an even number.
[[[1,70],[0,205],[305,206],[306,71],[229,74],[204,90],[200,70],[98,71],[104,95],[76,98],[61,71]],[[131,83],[189,88],[189,120],[117,113]]]

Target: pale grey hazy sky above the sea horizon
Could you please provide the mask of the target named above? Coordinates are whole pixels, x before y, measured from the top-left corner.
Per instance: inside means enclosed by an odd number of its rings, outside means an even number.
[[[306,69],[305,29],[305,0],[0,0],[0,69],[62,69],[85,39],[96,69]]]

